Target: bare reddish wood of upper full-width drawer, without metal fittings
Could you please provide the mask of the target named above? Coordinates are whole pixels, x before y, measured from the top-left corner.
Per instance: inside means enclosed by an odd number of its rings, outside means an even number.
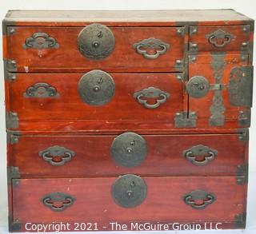
[[[245,164],[246,141],[238,134],[149,135],[148,153],[141,165],[126,168],[114,162],[110,147],[116,136],[26,136],[12,145],[9,164],[18,167],[22,176],[114,176],[138,173],[150,176],[221,176],[236,175]],[[58,145],[74,151],[71,161],[53,166],[38,153]],[[193,165],[183,151],[194,145],[206,145],[218,153],[207,165]],[[200,160],[199,157],[197,160]],[[201,160],[203,158],[201,157]],[[157,165],[157,166],[156,166]]]

